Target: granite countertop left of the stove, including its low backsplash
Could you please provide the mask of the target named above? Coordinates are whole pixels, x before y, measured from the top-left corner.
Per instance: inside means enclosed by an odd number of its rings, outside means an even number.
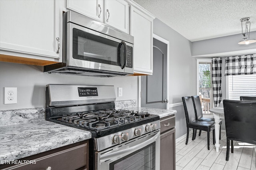
[[[92,138],[89,131],[44,120],[43,108],[24,110],[0,111],[1,164]]]

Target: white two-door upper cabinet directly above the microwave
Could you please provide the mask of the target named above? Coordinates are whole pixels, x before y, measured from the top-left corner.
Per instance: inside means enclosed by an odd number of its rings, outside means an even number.
[[[125,0],[66,0],[66,8],[129,33],[129,6]]]

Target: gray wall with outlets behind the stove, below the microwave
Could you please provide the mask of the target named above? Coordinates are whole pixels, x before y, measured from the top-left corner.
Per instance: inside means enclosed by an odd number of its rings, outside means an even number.
[[[114,85],[116,100],[137,100],[137,76],[100,78],[43,73],[42,66],[0,62],[0,110],[45,107],[46,84]],[[4,104],[4,87],[17,87],[17,104]],[[117,97],[117,88],[123,96]]]

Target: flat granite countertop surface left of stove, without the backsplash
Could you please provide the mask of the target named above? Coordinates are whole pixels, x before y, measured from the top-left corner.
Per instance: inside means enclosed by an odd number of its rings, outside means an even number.
[[[92,138],[89,131],[46,120],[0,128],[1,160],[17,160]]]

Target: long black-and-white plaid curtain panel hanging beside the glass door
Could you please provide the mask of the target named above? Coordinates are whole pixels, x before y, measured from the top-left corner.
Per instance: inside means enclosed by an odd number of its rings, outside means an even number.
[[[213,100],[214,100],[215,107],[220,105],[221,98],[222,98],[221,65],[222,65],[222,59],[220,57],[212,58],[212,88],[213,88]]]

